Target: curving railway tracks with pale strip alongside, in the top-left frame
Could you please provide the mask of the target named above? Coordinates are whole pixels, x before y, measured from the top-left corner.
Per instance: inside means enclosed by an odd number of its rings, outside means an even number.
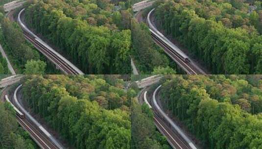
[[[21,14],[23,11],[24,9],[22,9],[18,14],[18,23],[23,29],[25,39],[32,43],[37,50],[44,54],[52,63],[56,65],[57,68],[62,70],[66,75],[84,75],[82,71],[80,71],[62,55],[51,49],[46,43],[44,43],[22,23]]]

